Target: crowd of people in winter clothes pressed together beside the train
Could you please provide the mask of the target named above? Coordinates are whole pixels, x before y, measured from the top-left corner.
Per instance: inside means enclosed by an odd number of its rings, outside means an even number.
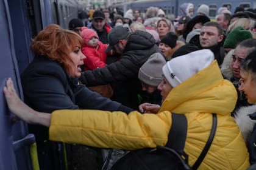
[[[95,10],[90,22],[74,18],[69,30],[52,24],[38,33],[21,75],[27,105],[10,79],[4,94],[36,136],[40,169],[60,169],[58,148],[74,152],[65,143],[109,149],[106,169],[127,150],[165,146],[172,112],[188,120],[190,166],[215,113],[216,135],[199,169],[249,168],[241,119],[256,112],[256,13],[221,7],[211,21],[207,5],[193,8],[180,5],[174,19],[157,7],[112,18]],[[244,107],[250,112],[241,114]]]

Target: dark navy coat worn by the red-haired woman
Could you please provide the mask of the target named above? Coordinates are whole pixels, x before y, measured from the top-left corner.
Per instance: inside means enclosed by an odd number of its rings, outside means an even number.
[[[131,110],[87,89],[78,78],[70,78],[59,63],[43,56],[35,56],[21,75],[21,82],[26,104],[40,112],[50,113],[57,109]],[[48,141],[48,128],[30,125],[29,131],[37,139],[40,166],[57,169],[51,163],[51,166],[45,165],[45,162],[53,161],[49,155],[56,152],[53,152],[52,142]]]

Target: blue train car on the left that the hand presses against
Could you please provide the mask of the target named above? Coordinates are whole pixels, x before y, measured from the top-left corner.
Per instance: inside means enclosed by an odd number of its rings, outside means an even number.
[[[79,7],[78,0],[0,0],[1,90],[11,77],[23,98],[20,73],[34,58],[29,47],[31,39],[49,24],[67,29],[68,21],[77,18]],[[2,92],[0,100],[0,169],[37,169],[34,135],[28,133],[26,123],[15,121]]]

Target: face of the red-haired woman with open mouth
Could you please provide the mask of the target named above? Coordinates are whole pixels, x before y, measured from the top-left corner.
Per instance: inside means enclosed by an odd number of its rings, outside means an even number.
[[[84,59],[86,58],[81,51],[81,47],[76,46],[75,49],[69,53],[69,56],[73,62],[69,64],[71,67],[71,69],[68,71],[69,76],[72,78],[80,77],[82,72],[81,66],[84,64]]]

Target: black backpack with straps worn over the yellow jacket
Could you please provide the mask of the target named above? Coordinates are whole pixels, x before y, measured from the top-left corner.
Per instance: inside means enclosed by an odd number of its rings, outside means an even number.
[[[146,169],[197,169],[204,160],[212,144],[216,132],[216,114],[213,114],[213,126],[205,148],[191,168],[188,165],[188,155],[183,151],[187,138],[187,118],[184,115],[172,113],[172,126],[166,146],[144,148],[130,151],[112,166],[112,170],[146,170]],[[175,142],[176,141],[176,142]],[[177,142],[178,141],[178,142]]]

